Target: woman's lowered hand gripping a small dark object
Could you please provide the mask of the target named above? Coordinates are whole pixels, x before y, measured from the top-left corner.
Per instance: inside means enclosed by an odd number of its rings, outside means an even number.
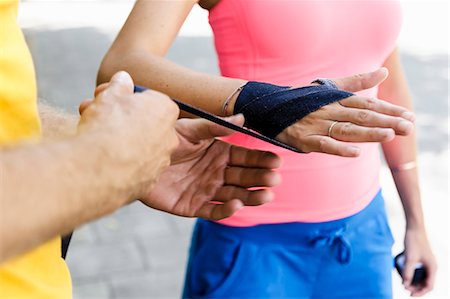
[[[403,285],[418,297],[430,292],[434,287],[436,277],[436,258],[431,251],[425,229],[407,228],[405,234],[405,269],[403,270]],[[414,267],[421,263],[426,269],[426,279],[420,285],[411,285]]]

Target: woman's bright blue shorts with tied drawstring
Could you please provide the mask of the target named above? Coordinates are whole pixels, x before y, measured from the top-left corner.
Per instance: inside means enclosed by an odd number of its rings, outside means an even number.
[[[183,298],[391,298],[393,242],[381,191],[329,222],[198,220]]]

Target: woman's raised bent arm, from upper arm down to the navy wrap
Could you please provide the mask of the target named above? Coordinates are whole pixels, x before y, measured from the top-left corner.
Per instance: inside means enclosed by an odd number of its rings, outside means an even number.
[[[126,70],[138,85],[220,115],[223,101],[246,81],[198,73],[164,58],[196,3],[137,1],[101,64],[97,83]]]

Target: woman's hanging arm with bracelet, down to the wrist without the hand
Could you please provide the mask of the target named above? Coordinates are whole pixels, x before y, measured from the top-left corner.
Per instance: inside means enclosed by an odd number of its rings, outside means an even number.
[[[390,75],[379,88],[379,98],[413,111],[411,95],[397,51],[392,53],[385,66],[389,69]],[[392,169],[392,176],[402,200],[407,225],[422,228],[423,212],[417,168],[401,169],[402,165],[415,162],[417,159],[415,133],[405,137],[396,137],[391,142],[384,143],[383,151],[386,162]]]

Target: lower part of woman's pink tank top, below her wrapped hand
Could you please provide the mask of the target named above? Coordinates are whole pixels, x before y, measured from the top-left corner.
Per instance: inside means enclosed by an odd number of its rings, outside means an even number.
[[[377,193],[379,150],[361,144],[358,158],[325,154],[279,152],[282,183],[271,188],[274,200],[259,207],[244,207],[221,223],[250,226],[293,221],[319,222],[358,212]]]

